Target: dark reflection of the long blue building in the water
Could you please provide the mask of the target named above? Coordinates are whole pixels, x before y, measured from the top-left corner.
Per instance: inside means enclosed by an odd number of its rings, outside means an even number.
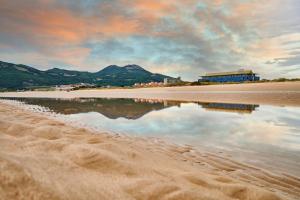
[[[259,105],[252,104],[232,104],[232,103],[199,103],[202,108],[211,111],[252,113]]]

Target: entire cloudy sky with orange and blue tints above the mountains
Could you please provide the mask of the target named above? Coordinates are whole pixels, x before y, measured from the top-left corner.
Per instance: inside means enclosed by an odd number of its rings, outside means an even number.
[[[197,80],[300,77],[299,0],[0,0],[0,60],[96,72],[138,64]]]

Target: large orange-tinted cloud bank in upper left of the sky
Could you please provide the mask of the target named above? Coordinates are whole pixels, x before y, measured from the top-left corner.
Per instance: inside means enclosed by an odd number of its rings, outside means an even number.
[[[3,1],[0,12],[5,13],[7,22],[2,30],[26,37],[28,41],[40,45],[77,45],[87,39],[103,39],[124,36],[142,31],[136,19],[120,15],[84,16],[64,7],[52,8],[52,1],[43,1],[40,9],[28,6],[15,8],[13,3]]]

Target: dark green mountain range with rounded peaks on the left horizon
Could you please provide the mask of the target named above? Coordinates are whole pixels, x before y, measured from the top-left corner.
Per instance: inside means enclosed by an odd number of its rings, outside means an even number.
[[[120,67],[110,65],[98,72],[83,72],[53,68],[41,71],[22,64],[0,61],[0,88],[21,89],[36,86],[54,86],[91,83],[97,86],[131,86],[134,83],[161,82],[172,78],[151,73],[138,65]]]

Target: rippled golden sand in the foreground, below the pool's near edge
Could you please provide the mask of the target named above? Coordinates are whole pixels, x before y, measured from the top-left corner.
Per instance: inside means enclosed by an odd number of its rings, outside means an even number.
[[[0,199],[299,199],[300,179],[0,103]],[[276,164],[276,163],[274,163]]]

